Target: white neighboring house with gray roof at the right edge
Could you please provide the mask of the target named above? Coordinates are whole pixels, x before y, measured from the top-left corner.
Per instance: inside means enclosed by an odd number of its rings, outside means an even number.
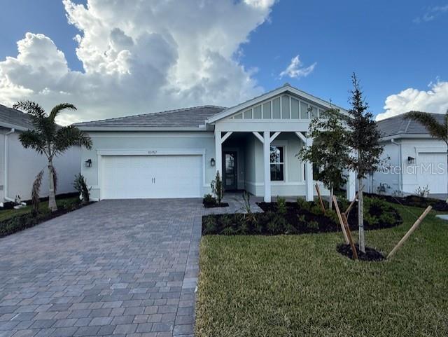
[[[444,114],[432,114],[444,123]],[[384,145],[384,167],[365,181],[365,191],[414,194],[428,186],[430,194],[447,195],[447,146],[431,137],[406,114],[378,121]],[[390,158],[390,159],[389,159]]]

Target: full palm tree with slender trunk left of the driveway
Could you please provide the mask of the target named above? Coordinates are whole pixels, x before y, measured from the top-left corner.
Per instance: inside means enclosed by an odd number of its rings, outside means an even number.
[[[92,140],[73,125],[62,127],[56,124],[55,118],[62,110],[76,110],[73,104],[57,104],[50,114],[46,114],[41,106],[31,101],[18,102],[14,104],[13,108],[27,112],[34,126],[33,130],[27,130],[20,134],[19,139],[22,146],[25,149],[34,149],[48,159],[48,185],[50,189],[48,208],[54,212],[57,210],[57,205],[55,196],[56,172],[53,167],[53,158],[64,153],[71,146],[84,146],[91,149]]]

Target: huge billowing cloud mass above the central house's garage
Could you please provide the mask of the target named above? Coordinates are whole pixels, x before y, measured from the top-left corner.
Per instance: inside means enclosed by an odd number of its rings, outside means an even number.
[[[46,109],[71,102],[59,123],[197,104],[233,105],[262,92],[237,60],[275,0],[63,0],[80,34],[72,71],[50,37],[27,33],[0,62],[0,103],[32,99]]]

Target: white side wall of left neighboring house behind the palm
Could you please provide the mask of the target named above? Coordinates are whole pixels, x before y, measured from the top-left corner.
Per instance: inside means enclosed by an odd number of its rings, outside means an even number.
[[[31,188],[36,174],[45,168],[41,186],[41,197],[48,196],[47,159],[32,149],[24,149],[18,139],[18,132],[8,135],[8,197],[15,199],[20,195],[22,200],[31,198]],[[1,185],[4,186],[4,132],[1,135]],[[80,172],[80,148],[77,146],[66,151],[64,155],[53,160],[57,172],[57,194],[74,192],[72,186],[75,174]],[[1,191],[4,200],[4,188]]]

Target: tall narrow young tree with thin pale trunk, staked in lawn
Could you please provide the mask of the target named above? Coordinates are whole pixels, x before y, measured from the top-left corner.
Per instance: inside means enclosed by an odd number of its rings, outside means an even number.
[[[359,226],[359,249],[365,252],[364,239],[364,201],[363,201],[363,179],[377,170],[383,146],[379,144],[381,137],[377,124],[373,119],[372,112],[365,102],[363,92],[360,88],[358,78],[353,73],[351,76],[353,89],[350,90],[351,109],[347,119],[349,137],[347,138],[352,152],[349,158],[349,167],[356,171],[358,179],[358,226]]]

